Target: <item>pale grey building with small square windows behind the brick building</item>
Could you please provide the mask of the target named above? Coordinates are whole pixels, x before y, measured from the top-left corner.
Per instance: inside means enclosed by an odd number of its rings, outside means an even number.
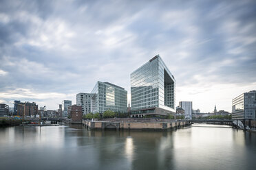
[[[78,93],[76,95],[76,105],[82,106],[83,114],[91,112],[92,93]]]

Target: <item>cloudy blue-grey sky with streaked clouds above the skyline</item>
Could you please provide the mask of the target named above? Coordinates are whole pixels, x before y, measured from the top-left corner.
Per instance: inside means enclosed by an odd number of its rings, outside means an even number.
[[[178,101],[231,112],[256,90],[256,1],[0,1],[0,103],[76,104],[159,54]],[[130,95],[129,95],[130,96]]]

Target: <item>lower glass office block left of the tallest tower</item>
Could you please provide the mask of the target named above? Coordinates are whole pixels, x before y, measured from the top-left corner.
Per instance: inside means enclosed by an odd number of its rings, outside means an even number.
[[[91,112],[127,112],[127,90],[109,82],[97,82],[92,90]]]

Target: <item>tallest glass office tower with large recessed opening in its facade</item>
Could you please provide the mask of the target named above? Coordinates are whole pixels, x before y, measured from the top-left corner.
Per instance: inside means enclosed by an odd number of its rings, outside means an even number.
[[[155,56],[131,73],[131,117],[175,114],[175,78]]]

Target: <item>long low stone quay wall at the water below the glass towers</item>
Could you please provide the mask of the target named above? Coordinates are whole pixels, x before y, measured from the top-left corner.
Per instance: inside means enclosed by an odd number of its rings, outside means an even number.
[[[189,121],[173,122],[127,122],[127,121],[88,121],[83,120],[83,125],[89,129],[116,129],[116,130],[171,130],[190,125]]]

